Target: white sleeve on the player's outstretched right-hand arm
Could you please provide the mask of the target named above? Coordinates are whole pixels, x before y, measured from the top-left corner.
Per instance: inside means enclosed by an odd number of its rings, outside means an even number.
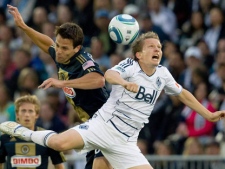
[[[166,85],[164,87],[165,93],[168,95],[178,95],[182,91],[182,86],[179,85],[167,68],[164,67]]]

